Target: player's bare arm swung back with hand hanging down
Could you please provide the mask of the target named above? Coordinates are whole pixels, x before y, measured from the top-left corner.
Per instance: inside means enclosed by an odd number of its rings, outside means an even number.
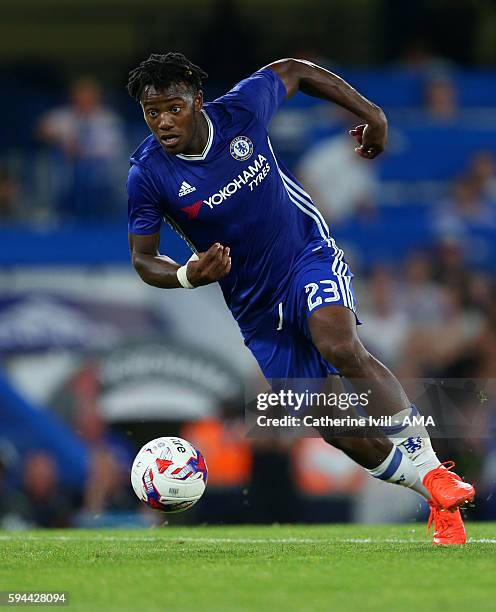
[[[360,145],[355,149],[358,155],[373,159],[384,151],[387,141],[384,112],[337,74],[312,62],[292,58],[278,60],[265,68],[279,75],[286,87],[287,97],[301,91],[338,104],[360,117],[365,123],[350,130],[350,135]]]

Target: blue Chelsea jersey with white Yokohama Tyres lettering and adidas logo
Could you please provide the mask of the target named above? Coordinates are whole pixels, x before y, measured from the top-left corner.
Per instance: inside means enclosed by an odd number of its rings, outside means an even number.
[[[131,157],[129,232],[154,234],[165,220],[193,251],[229,246],[232,268],[220,285],[242,329],[277,304],[306,249],[342,253],[272,150],[267,126],[285,96],[279,75],[259,70],[204,105],[209,137],[200,155],[168,154],[150,135]]]

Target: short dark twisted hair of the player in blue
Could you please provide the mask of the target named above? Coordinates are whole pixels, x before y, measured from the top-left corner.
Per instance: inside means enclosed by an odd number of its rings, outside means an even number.
[[[186,83],[196,94],[207,77],[206,72],[190,62],[182,53],[169,52],[165,55],[152,53],[137,68],[131,70],[127,90],[131,98],[138,102],[144,88],[150,85],[158,90],[167,89],[177,83]]]

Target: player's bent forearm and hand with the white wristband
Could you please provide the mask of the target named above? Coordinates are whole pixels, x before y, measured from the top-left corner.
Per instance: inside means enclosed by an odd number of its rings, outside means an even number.
[[[148,285],[162,289],[181,287],[177,276],[181,266],[166,255],[161,255],[159,247],[160,233],[129,234],[131,260],[141,279]],[[198,253],[197,261],[190,260],[186,265],[186,277],[193,287],[215,283],[231,270],[229,247],[216,242],[208,251]]]

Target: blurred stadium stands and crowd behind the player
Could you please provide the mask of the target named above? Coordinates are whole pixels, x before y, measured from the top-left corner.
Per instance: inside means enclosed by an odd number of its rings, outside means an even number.
[[[207,99],[279,57],[314,60],[385,109],[390,145],[352,155],[353,119],[296,96],[276,149],[356,275],[364,342],[407,377],[496,372],[496,7],[484,0],[2,0],[0,525],[132,526],[145,441],[203,450],[208,494],[185,522],[422,519],[319,440],[249,441],[263,384],[216,286],[144,285],[127,251],[125,176],[146,136],[127,72],[179,50]],[[249,237],[247,237],[249,239]],[[188,250],[164,230],[163,251]],[[493,401],[493,400],[492,400]],[[490,402],[491,403],[491,402]],[[440,440],[496,519],[494,439]]]

